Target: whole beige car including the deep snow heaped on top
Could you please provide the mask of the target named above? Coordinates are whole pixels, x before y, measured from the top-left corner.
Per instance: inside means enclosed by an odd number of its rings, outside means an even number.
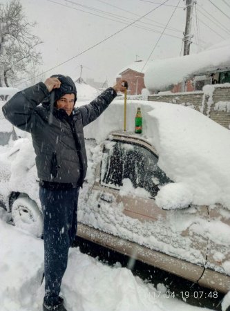
[[[119,101],[85,129],[88,173],[79,196],[77,235],[228,292],[230,133],[184,106],[132,101],[130,115],[137,106],[145,120],[142,135],[133,133],[131,117],[126,132],[114,131],[122,127]],[[228,144],[224,155],[223,142]],[[19,139],[1,153],[0,167],[1,205],[12,211],[15,225],[40,236],[31,140]]]

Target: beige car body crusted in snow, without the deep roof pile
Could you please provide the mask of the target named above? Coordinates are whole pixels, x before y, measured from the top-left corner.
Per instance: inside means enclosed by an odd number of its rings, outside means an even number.
[[[204,227],[228,226],[221,206],[164,210],[155,204],[171,182],[157,166],[154,147],[113,133],[99,146],[86,140],[89,169],[79,197],[77,235],[213,289],[227,292],[229,245]],[[1,154],[1,205],[17,227],[42,234],[42,214],[32,142],[21,139]],[[224,258],[224,261],[223,261]]]

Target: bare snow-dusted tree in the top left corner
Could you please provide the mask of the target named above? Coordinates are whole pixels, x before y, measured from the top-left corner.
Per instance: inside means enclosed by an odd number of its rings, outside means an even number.
[[[41,62],[35,47],[41,44],[39,37],[32,35],[32,27],[19,0],[0,5],[0,86],[14,84],[19,75],[25,77],[30,66]]]

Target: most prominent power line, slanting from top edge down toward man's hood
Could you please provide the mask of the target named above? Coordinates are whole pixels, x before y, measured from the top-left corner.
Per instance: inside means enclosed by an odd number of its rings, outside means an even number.
[[[50,0],[48,0],[48,1],[50,1]],[[169,0],[165,0],[164,3],[166,3],[167,1],[169,1]],[[50,1],[50,2],[51,2],[51,1]],[[160,6],[162,6],[162,4],[161,4]],[[160,8],[160,6],[157,6],[157,8]],[[147,15],[151,14],[151,12],[157,10],[157,8],[153,8],[153,10],[151,10],[151,11],[147,12],[146,14],[142,15],[139,19],[133,21],[132,23],[129,23],[127,26],[123,27],[122,29],[117,30],[117,31],[114,32],[112,35],[109,35],[109,36],[106,37],[105,39],[103,39],[103,40],[97,42],[97,44],[93,44],[93,46],[90,46],[89,48],[86,48],[86,50],[83,50],[81,53],[79,53],[79,54],[77,54],[77,55],[75,55],[75,56],[73,56],[73,57],[70,57],[70,58],[67,59],[65,62],[61,62],[60,64],[57,64],[56,66],[54,66],[54,67],[52,67],[52,68],[50,68],[50,69],[44,71],[44,73],[41,73],[41,74],[39,74],[39,75],[36,75],[35,77],[39,77],[40,75],[44,75],[45,73],[48,73],[50,70],[55,69],[55,68],[57,68],[57,67],[59,67],[59,66],[61,66],[61,65],[63,65],[63,64],[66,64],[67,62],[70,62],[70,60],[75,59],[76,57],[79,57],[80,55],[82,55],[82,54],[88,52],[88,50],[92,50],[92,49],[95,48],[96,46],[99,46],[99,44],[102,44],[104,41],[107,41],[108,39],[111,39],[112,37],[114,37],[115,35],[117,35],[119,32],[122,32],[122,31],[125,30],[126,28],[132,26],[133,23],[136,23],[137,21],[140,21],[140,19],[142,19],[142,18],[146,17]],[[167,26],[167,25],[166,25],[166,26]],[[30,79],[34,79],[35,77],[32,77],[32,78],[30,78]],[[19,85],[22,84],[22,83],[28,82],[30,79],[27,79],[26,81],[23,81],[23,82],[21,82],[21,83],[19,83],[19,84],[16,84],[16,86],[19,86]]]

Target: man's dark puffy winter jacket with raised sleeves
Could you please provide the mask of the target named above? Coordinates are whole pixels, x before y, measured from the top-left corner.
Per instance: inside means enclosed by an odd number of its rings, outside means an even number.
[[[19,129],[31,133],[40,180],[82,186],[87,170],[83,128],[99,117],[117,93],[107,88],[70,116],[55,108],[50,115],[50,107],[40,104],[49,95],[46,85],[39,82],[15,94],[3,106],[3,114]]]

